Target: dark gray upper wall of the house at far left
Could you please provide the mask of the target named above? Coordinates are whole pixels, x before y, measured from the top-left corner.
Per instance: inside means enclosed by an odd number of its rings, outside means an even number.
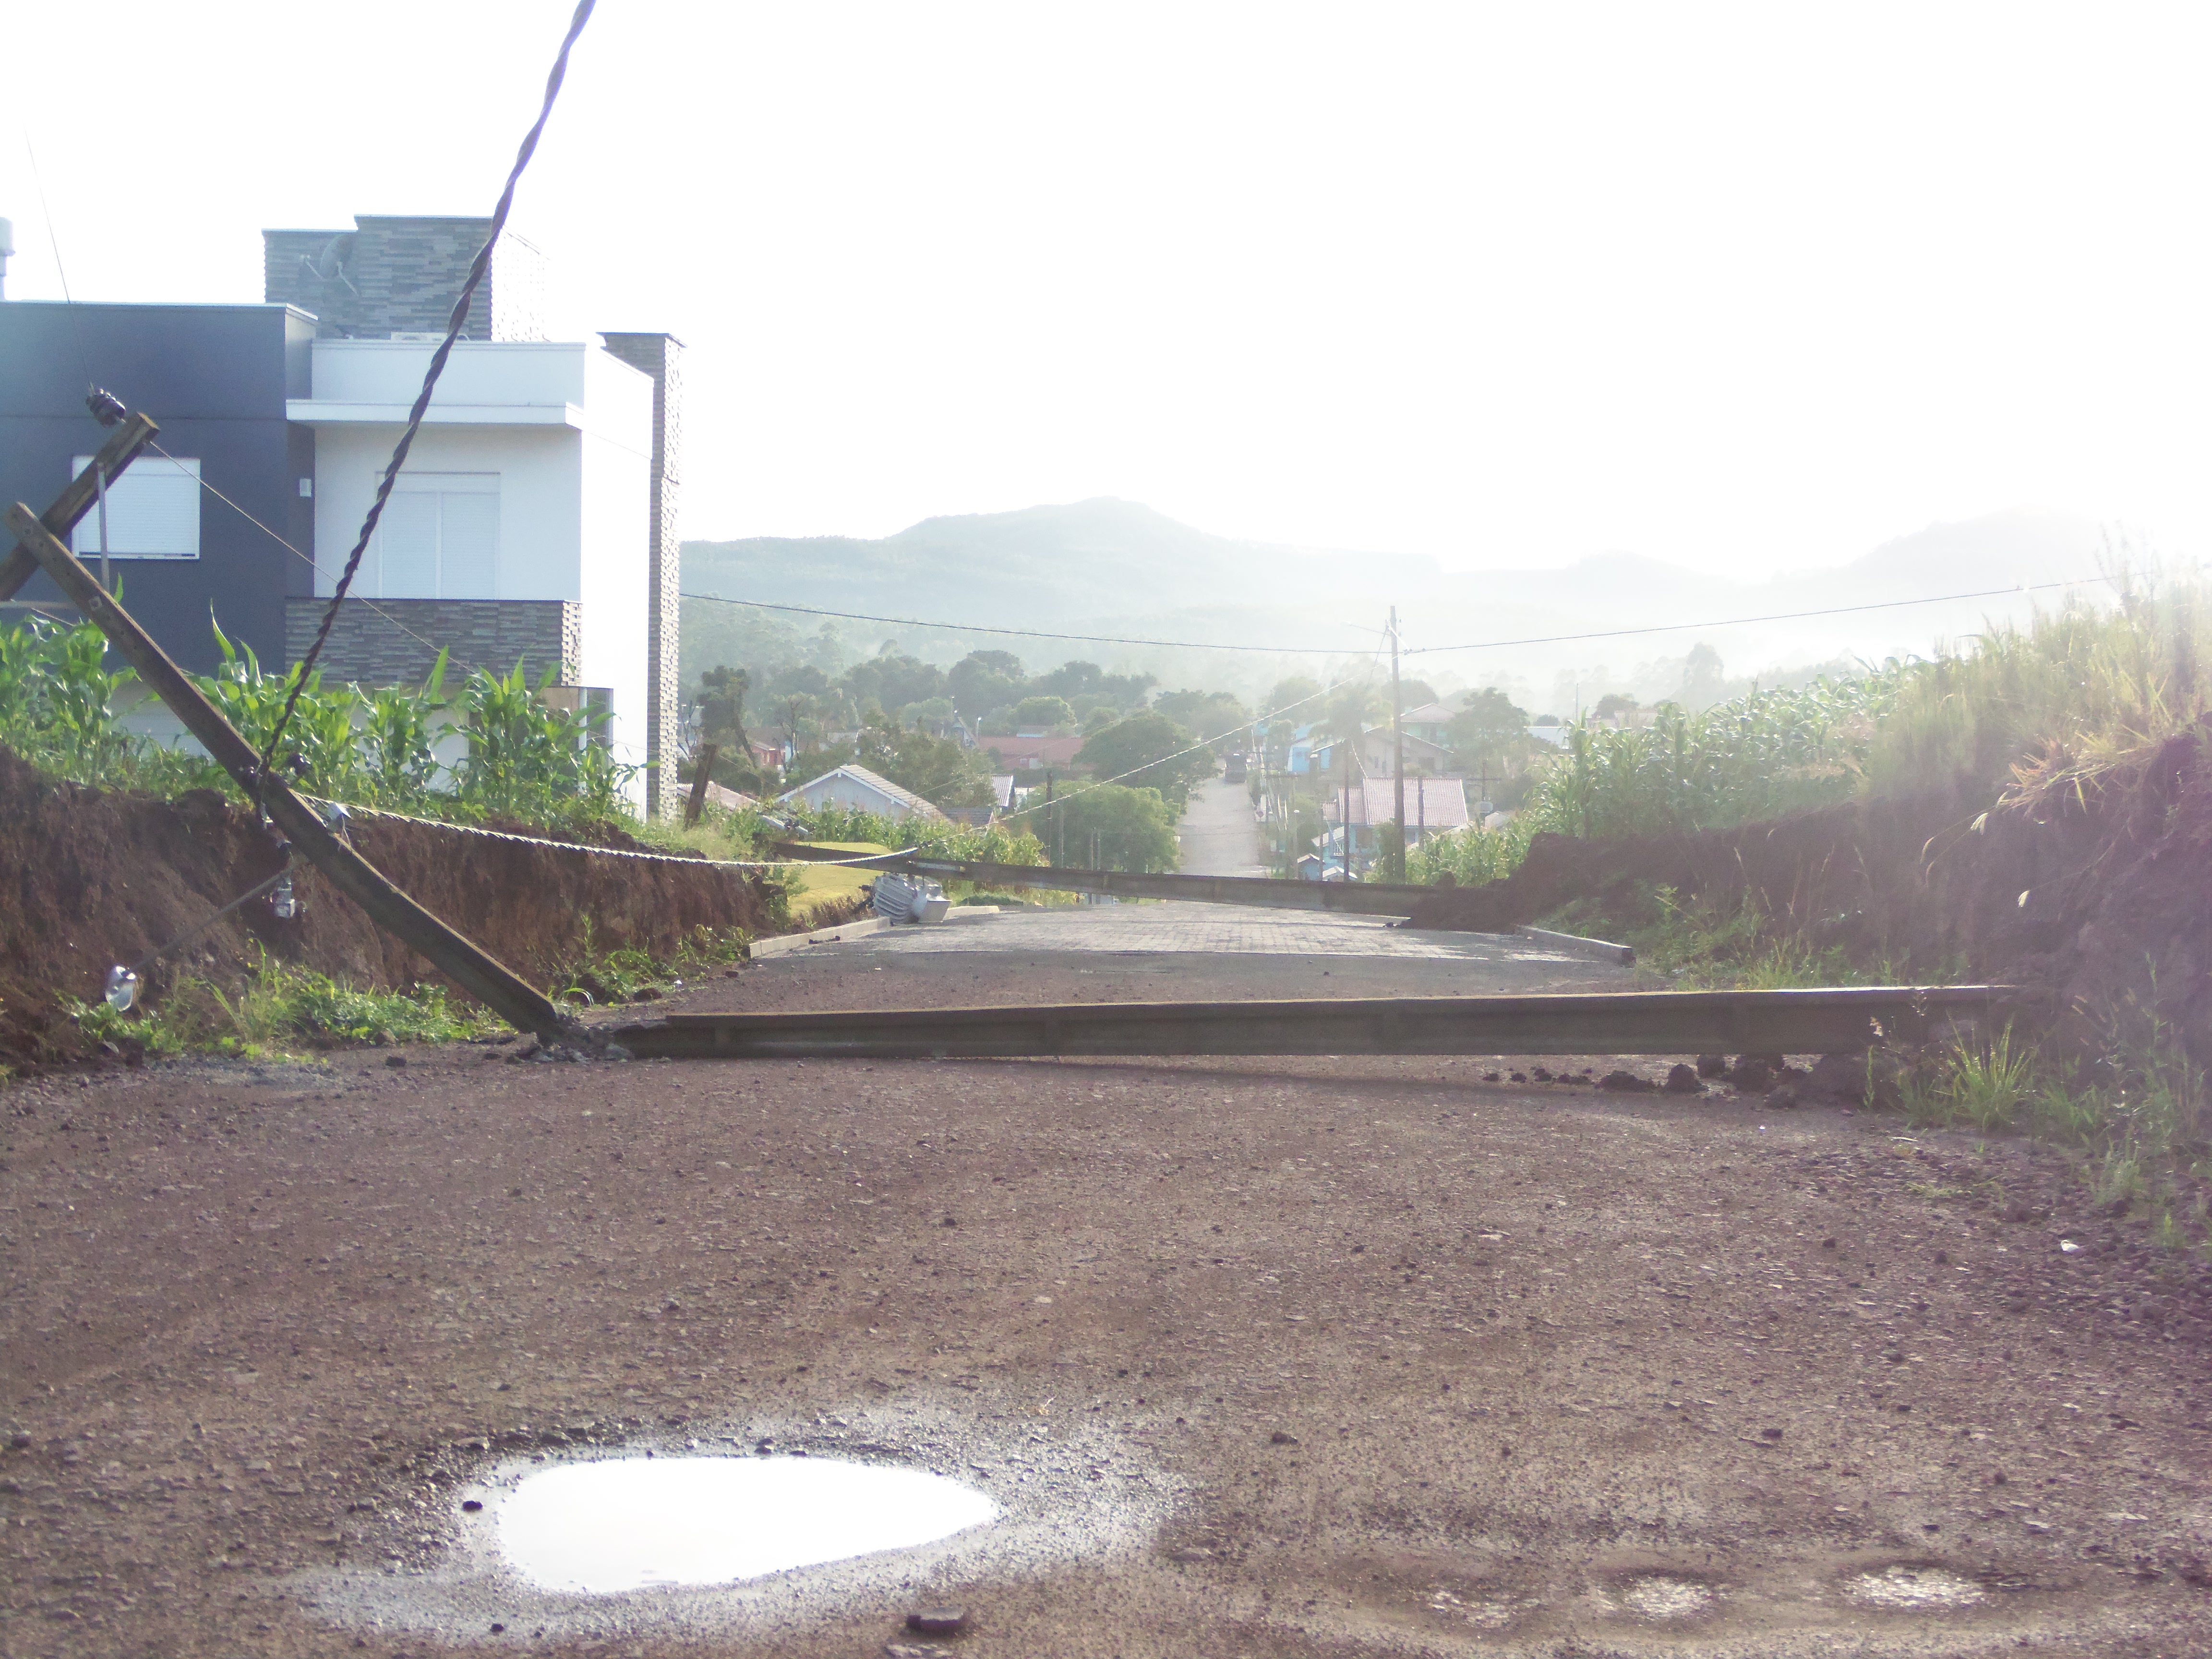
[[[0,498],[46,504],[71,456],[106,436],[84,409],[97,380],[159,422],[159,445],[197,458],[206,484],[314,557],[314,434],[292,429],[285,396],[307,396],[314,319],[285,305],[0,303]],[[184,668],[219,661],[208,615],[261,664],[285,666],[285,595],[314,571],[208,491],[197,560],[117,560],[124,606]],[[44,575],[22,599],[60,599]]]

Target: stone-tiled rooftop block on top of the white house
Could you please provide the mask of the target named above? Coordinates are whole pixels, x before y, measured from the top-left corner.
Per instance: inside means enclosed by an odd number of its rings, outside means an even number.
[[[323,338],[445,334],[491,219],[356,215],[354,230],[263,230],[270,303],[314,312]],[[471,341],[542,341],[544,254],[513,230],[469,301]]]

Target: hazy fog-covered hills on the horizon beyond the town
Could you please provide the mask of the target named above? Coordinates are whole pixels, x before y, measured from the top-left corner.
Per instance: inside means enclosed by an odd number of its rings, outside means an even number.
[[[971,648],[1011,650],[1031,668],[1086,657],[1152,672],[1166,686],[1225,686],[1261,695],[1292,670],[1345,672],[1371,661],[1391,604],[1407,672],[1440,686],[1506,684],[1537,703],[1575,688],[1666,695],[1692,646],[1721,653],[1730,675],[1772,675],[1836,657],[1927,653],[1991,619],[2024,619],[2064,593],[1911,604],[1792,622],[1712,626],[1734,617],[1827,611],[1936,595],[2095,580],[2108,557],[2097,524],[2015,509],[1900,535],[1843,566],[1801,568],[1776,538],[1765,568],[1743,577],[1690,571],[1635,553],[1597,553],[1562,568],[1447,571],[1398,553],[1272,546],[1179,524],[1124,500],[931,518],[883,540],[748,538],[686,542],[684,591],[752,604],[796,604],[883,617],[967,624],[914,628],[832,622],[834,648],[872,655],[883,641],[931,661]],[[2079,588],[2093,595],[2099,588]],[[745,664],[768,646],[739,617],[761,613],[688,599],[686,679],[714,661]],[[823,617],[779,615],[821,637]],[[1562,639],[1621,628],[1697,624],[1610,639]],[[1037,628],[1214,646],[1079,644],[978,633]],[[1482,650],[1436,650],[1484,641]],[[757,664],[745,664],[757,666]],[[1586,697],[1595,697],[1590,690]],[[1568,712],[1562,708],[1559,712]]]

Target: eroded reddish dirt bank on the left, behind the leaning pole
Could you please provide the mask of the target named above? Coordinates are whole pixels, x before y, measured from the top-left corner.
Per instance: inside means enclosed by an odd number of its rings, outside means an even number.
[[[752,876],[677,858],[606,858],[383,816],[354,845],[392,880],[509,967],[546,978],[588,953],[672,953],[697,927],[768,931]],[[175,801],[55,783],[0,750],[0,1062],[75,1055],[69,998],[97,1000],[111,962],[135,962],[276,874],[254,816],[215,790]],[[175,973],[243,975],[261,949],[361,987],[434,980],[312,867],[301,914],[250,902],[166,958]]]

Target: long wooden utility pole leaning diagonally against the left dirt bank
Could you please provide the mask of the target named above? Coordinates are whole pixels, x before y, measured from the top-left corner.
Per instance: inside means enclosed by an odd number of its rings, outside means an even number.
[[[60,509],[62,502],[55,502],[51,511]],[[376,865],[354,852],[345,838],[323,823],[323,814],[294,794],[283,779],[263,776],[259,770],[261,757],[252,743],[239,737],[221,710],[153,641],[153,635],[128,611],[115,604],[106,588],[100,586],[100,580],[77,562],[77,555],[29,507],[22,502],[9,507],[7,526],[22,540],[46,575],[53,577],[55,586],[69,595],[71,604],[100,626],[124,661],[137,670],[139,681],[168,703],[170,712],[237,779],[248,796],[261,801],[261,810],[292,841],[292,847],[321,869],[341,894],[361,905],[369,914],[369,920],[398,938],[407,949],[427,958],[453,984],[518,1031],[535,1031],[542,1037],[573,1035],[573,1022],[544,991],[403,894]]]

